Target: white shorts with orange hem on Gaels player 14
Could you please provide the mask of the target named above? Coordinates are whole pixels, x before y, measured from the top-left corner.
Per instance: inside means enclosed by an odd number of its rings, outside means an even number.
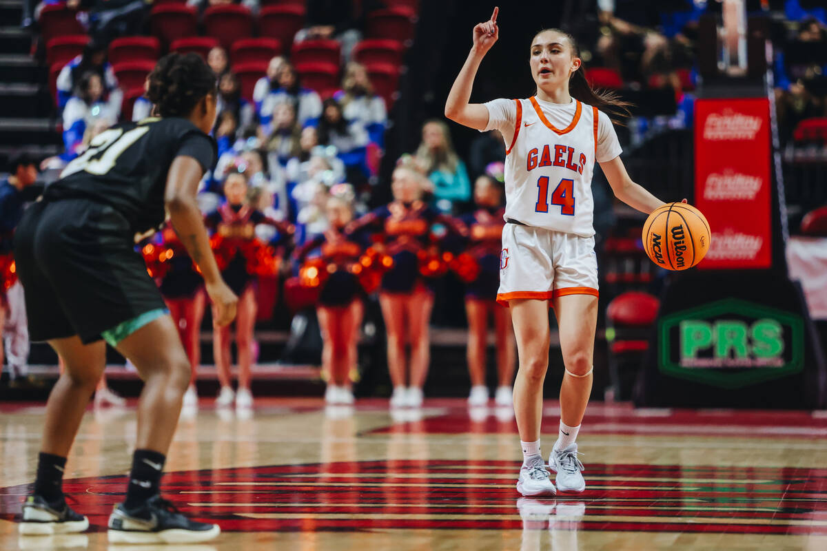
[[[598,296],[595,238],[509,223],[503,228],[497,302]]]

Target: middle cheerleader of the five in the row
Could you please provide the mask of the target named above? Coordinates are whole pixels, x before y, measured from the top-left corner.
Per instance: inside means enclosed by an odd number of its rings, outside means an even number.
[[[322,331],[322,368],[327,376],[324,399],[329,404],[352,404],[351,370],[356,368],[359,327],[361,326],[365,295],[363,276],[370,277],[361,264],[363,252],[369,245],[360,233],[346,234],[345,226],[353,220],[353,191],[348,184],[333,186],[325,204],[330,227],[315,239],[308,241],[296,254],[304,263],[299,277],[321,274],[316,313]],[[315,269],[313,269],[315,268]],[[370,283],[367,283],[370,286]],[[370,289],[368,289],[370,290]]]

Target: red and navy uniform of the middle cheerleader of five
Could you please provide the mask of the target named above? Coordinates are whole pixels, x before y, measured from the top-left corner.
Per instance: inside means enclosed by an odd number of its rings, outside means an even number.
[[[347,306],[356,297],[365,294],[365,288],[359,276],[351,269],[360,263],[362,254],[370,245],[363,232],[346,234],[331,228],[313,240],[305,243],[296,254],[299,262],[304,262],[313,251],[318,249],[314,258],[321,259],[327,278],[319,289],[319,306]]]

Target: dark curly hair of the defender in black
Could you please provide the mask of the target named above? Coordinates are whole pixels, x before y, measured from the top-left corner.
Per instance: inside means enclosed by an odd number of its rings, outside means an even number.
[[[165,55],[148,78],[146,98],[160,116],[187,117],[204,96],[216,93],[213,69],[194,53]]]

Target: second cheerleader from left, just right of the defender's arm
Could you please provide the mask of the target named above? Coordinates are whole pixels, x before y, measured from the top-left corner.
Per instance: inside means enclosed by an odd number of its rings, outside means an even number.
[[[224,181],[227,202],[217,211],[206,216],[206,225],[213,233],[213,252],[222,268],[222,278],[238,297],[236,318],[236,346],[238,350],[238,391],[230,386],[230,329],[229,326],[213,327],[213,354],[215,354],[218,381],[221,390],[217,406],[230,406],[235,400],[238,409],[252,406],[250,392],[252,365],[253,326],[256,322],[257,273],[278,273],[279,261],[291,241],[294,228],[287,222],[265,216],[261,211],[246,204],[247,179],[237,169],[232,169]],[[279,230],[278,249],[268,248],[256,240],[256,225],[267,224]]]

